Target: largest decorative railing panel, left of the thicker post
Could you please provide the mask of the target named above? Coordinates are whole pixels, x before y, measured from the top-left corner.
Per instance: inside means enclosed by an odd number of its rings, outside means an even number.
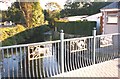
[[[52,55],[52,52],[50,52],[49,48],[46,46],[43,46],[43,45],[28,46],[29,60],[49,57],[51,55]]]

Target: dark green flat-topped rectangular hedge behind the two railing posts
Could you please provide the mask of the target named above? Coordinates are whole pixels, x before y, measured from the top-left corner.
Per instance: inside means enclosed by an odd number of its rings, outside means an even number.
[[[95,21],[74,21],[74,22],[56,22],[57,30],[64,30],[64,33],[75,35],[92,35],[93,27],[96,27]]]

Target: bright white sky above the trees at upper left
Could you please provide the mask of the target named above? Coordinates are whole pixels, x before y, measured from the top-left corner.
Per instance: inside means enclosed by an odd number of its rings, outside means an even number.
[[[4,1],[4,3],[3,3]],[[16,0],[0,0],[0,10],[7,10],[8,7],[11,6],[11,3]],[[40,0],[40,5],[43,9],[45,9],[45,4],[48,2],[57,2],[61,8],[64,7],[64,4],[67,0]]]

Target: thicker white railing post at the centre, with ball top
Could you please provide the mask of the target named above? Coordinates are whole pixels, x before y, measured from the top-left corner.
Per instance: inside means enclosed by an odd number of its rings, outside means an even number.
[[[62,69],[62,73],[64,73],[64,33],[63,33],[63,30],[61,30],[61,33],[60,33],[60,40],[61,40],[61,69]]]

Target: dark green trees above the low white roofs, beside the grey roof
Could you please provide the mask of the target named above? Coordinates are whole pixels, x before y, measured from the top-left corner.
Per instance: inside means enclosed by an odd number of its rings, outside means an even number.
[[[65,9],[60,12],[61,17],[92,15],[99,13],[100,9],[111,2],[68,2],[65,4]]]

